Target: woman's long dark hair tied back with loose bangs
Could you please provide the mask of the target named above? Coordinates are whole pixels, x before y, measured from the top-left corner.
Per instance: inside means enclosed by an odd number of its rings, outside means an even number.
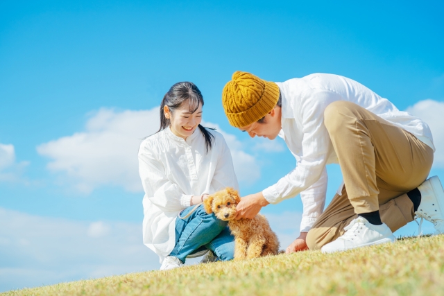
[[[164,115],[164,106],[168,106],[170,113],[173,114],[187,100],[189,101],[189,112],[191,113],[196,112],[200,104],[203,106],[202,93],[193,82],[177,82],[169,89],[162,99],[162,103],[160,103],[160,128],[157,132],[168,128],[170,125],[170,120]],[[208,150],[212,148],[214,140],[214,135],[208,130],[214,130],[214,128],[204,128],[200,124],[198,128],[202,132],[203,137],[205,137],[205,146],[208,153]]]

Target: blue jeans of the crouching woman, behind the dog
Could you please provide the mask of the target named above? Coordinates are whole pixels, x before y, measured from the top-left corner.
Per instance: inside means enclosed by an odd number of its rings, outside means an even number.
[[[187,207],[180,216],[186,216],[193,208]],[[222,261],[233,259],[234,237],[227,224],[214,214],[207,214],[203,204],[200,204],[189,217],[176,219],[176,245],[169,256],[175,256],[185,263],[188,255],[211,250]]]

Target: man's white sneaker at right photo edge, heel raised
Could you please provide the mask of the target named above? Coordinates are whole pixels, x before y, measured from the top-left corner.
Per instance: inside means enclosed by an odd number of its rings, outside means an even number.
[[[435,235],[444,234],[444,190],[438,176],[425,180],[418,189],[421,193],[421,203],[415,212],[415,218],[421,218],[418,234],[420,235],[422,219],[434,224]]]

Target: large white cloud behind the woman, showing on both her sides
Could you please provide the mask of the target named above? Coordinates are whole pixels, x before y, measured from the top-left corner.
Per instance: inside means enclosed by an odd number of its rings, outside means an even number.
[[[101,109],[89,118],[85,131],[43,143],[37,152],[51,159],[47,165],[50,171],[63,173],[62,181],[74,184],[79,191],[90,193],[105,185],[142,191],[137,150],[141,139],[158,130],[158,113],[158,107],[122,112]],[[239,182],[253,184],[260,177],[255,157],[242,150],[242,143],[234,135],[217,128],[230,147]]]

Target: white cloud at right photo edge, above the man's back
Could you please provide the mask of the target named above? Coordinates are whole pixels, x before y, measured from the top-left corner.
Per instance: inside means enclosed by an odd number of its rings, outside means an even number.
[[[444,102],[431,99],[419,101],[415,105],[407,108],[407,112],[418,116],[429,125],[430,130],[432,130],[434,146],[436,148],[434,166],[444,168]]]

